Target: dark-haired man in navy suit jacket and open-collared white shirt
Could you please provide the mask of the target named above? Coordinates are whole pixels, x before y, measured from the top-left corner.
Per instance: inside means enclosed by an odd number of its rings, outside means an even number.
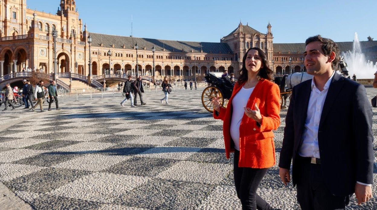
[[[303,210],[344,209],[349,196],[372,197],[372,109],[363,85],[333,69],[339,48],[320,35],[307,39],[307,73],[293,88],[280,152],[279,175],[293,185]]]

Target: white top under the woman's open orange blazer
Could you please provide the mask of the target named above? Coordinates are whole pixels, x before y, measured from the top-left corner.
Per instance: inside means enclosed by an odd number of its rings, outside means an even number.
[[[230,122],[230,136],[234,142],[234,148],[239,150],[239,125],[241,125],[242,117],[245,114],[244,106],[250,98],[251,93],[255,87],[245,89],[243,86],[241,90],[234,96],[232,100],[233,113]]]

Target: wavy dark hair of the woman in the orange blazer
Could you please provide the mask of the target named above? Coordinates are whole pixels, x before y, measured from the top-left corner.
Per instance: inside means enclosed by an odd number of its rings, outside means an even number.
[[[250,50],[256,50],[258,51],[258,54],[259,54],[259,57],[261,57],[261,60],[262,60],[262,68],[259,70],[259,73],[257,75],[258,79],[267,79],[267,80],[273,80],[274,76],[273,76],[273,71],[270,69],[269,65],[268,65],[268,62],[267,62],[267,59],[266,59],[266,54],[259,48],[257,47],[253,47],[253,48],[250,48],[246,51],[245,55],[244,55],[244,58],[242,59],[242,68],[241,70],[238,72],[239,74],[239,78],[238,78],[238,83],[239,84],[242,84],[244,83],[245,81],[247,81],[248,79],[248,76],[247,76],[247,69],[246,69],[246,57],[247,57],[247,53],[249,53]]]

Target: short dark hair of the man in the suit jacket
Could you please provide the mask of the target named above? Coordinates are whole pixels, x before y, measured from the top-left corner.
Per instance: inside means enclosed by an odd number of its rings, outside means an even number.
[[[321,48],[325,56],[329,56],[331,52],[335,53],[335,59],[331,62],[331,66],[334,70],[336,70],[339,60],[340,60],[340,50],[338,45],[332,40],[323,38],[321,35],[311,36],[305,41],[305,46],[308,45],[310,42],[319,41],[322,43]]]

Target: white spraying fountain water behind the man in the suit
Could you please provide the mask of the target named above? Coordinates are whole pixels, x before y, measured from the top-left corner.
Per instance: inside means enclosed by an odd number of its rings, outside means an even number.
[[[348,75],[352,78],[356,74],[357,79],[373,79],[374,73],[377,71],[377,62],[373,65],[372,61],[366,60],[365,54],[362,53],[359,38],[355,32],[352,51],[342,52],[340,56],[344,56],[347,63]],[[373,80],[372,80],[373,81]]]

